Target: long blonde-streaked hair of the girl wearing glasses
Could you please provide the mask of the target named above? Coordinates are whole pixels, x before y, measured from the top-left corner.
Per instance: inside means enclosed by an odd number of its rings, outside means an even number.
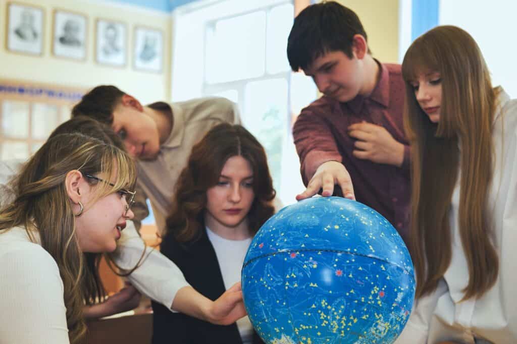
[[[87,179],[95,187],[95,197],[85,207],[120,189],[133,189],[136,179],[133,160],[120,149],[79,133],[55,135],[13,180],[15,198],[0,210],[0,230],[24,227],[28,237],[54,258],[63,280],[70,342],[76,343],[86,332],[84,304],[102,300],[104,290],[96,268],[100,254],[82,253],[75,233],[65,186],[71,170],[103,179],[116,176],[114,186]]]

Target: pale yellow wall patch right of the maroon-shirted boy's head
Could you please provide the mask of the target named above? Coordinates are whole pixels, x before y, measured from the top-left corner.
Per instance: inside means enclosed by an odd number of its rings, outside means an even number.
[[[357,13],[372,54],[382,62],[399,63],[399,0],[337,0]]]

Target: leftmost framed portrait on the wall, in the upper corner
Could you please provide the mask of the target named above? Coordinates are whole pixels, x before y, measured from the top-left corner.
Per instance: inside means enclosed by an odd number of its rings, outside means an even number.
[[[7,5],[7,50],[31,55],[43,53],[41,7],[19,3]]]

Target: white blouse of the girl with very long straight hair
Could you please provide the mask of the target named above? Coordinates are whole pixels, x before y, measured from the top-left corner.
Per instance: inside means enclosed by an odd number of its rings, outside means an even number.
[[[501,89],[498,101],[488,206],[499,253],[499,277],[481,298],[460,302],[469,275],[458,224],[458,180],[450,210],[451,263],[437,290],[415,302],[397,344],[445,340],[474,343],[475,338],[497,344],[517,343],[517,100],[510,100]]]

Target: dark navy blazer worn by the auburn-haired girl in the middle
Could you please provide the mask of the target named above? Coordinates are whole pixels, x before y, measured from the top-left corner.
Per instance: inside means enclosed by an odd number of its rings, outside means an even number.
[[[183,272],[187,282],[210,300],[216,300],[226,288],[214,246],[203,228],[199,240],[178,243],[165,237],[160,251]],[[181,313],[173,313],[156,302],[153,305],[153,344],[242,344],[237,324],[215,325]],[[253,333],[253,344],[264,344]]]

